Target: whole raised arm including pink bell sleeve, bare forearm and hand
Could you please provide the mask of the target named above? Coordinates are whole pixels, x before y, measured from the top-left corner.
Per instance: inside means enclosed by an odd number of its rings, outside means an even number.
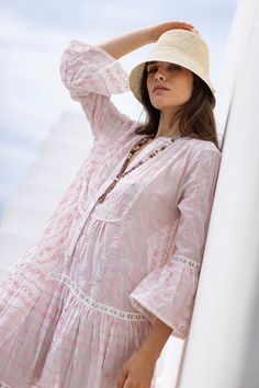
[[[168,22],[124,34],[99,45],[71,41],[63,53],[60,76],[72,100],[79,101],[92,134],[105,148],[132,136],[135,121],[120,112],[112,94],[130,91],[128,75],[119,58],[156,42],[168,30],[193,30],[184,22]],[[138,125],[138,123],[136,123]]]

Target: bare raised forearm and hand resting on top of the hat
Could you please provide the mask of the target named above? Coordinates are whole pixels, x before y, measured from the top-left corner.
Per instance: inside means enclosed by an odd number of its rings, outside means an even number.
[[[168,30],[183,28],[193,31],[193,25],[185,22],[167,22],[150,27],[142,28],[128,34],[121,35],[113,39],[103,42],[98,46],[113,56],[115,59],[145,46],[146,44],[156,42],[161,34]]]

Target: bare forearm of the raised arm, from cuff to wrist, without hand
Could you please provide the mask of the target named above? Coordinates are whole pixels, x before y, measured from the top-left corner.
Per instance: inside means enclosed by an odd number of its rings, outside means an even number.
[[[130,34],[121,35],[113,39],[103,42],[101,47],[115,59],[134,52],[135,49],[154,42],[153,27],[142,28]]]

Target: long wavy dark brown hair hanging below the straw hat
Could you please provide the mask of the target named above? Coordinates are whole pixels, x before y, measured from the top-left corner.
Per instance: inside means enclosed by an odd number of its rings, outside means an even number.
[[[140,95],[144,110],[147,113],[146,123],[136,128],[136,134],[156,135],[160,111],[153,106],[147,90],[147,64],[140,80]],[[190,100],[171,117],[170,126],[179,119],[179,132],[182,136],[213,141],[221,150],[213,110],[215,98],[206,83],[193,72],[193,91]]]

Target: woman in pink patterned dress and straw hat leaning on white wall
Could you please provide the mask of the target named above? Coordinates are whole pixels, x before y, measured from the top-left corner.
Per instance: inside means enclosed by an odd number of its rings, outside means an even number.
[[[116,59],[155,42],[128,84]],[[0,284],[3,387],[155,387],[169,335],[185,339],[221,161],[207,59],[182,22],[65,49],[94,144]],[[146,123],[111,102],[128,90]]]

